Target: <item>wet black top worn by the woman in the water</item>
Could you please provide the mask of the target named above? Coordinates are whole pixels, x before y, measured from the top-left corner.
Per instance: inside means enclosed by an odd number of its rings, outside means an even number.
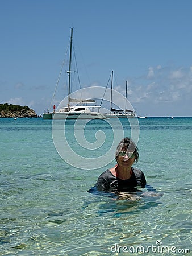
[[[144,188],[145,185],[144,173],[139,169],[132,168],[132,175],[128,180],[121,180],[115,177],[110,170],[106,170],[98,177],[95,187],[98,191],[133,191],[135,187]]]

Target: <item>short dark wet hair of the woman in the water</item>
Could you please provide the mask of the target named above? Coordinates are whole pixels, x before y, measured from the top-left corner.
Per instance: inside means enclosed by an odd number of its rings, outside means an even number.
[[[117,159],[120,151],[134,152],[134,154],[135,154],[135,163],[138,162],[138,160],[139,160],[138,148],[136,147],[135,143],[133,142],[133,140],[131,138],[126,137],[126,138],[123,138],[119,142],[118,146],[116,147],[116,151],[115,151],[115,159]]]

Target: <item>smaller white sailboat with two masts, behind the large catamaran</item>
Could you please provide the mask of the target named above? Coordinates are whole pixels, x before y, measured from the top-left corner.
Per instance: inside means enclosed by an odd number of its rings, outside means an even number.
[[[110,113],[103,114],[106,118],[134,118],[136,112],[134,110],[127,109],[127,81],[126,81],[126,97],[125,97],[125,109],[112,108],[112,90],[113,90],[113,71],[111,72],[111,101],[110,101]]]

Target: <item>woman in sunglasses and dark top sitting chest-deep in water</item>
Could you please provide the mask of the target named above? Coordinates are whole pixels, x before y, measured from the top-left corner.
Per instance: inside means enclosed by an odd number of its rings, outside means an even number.
[[[135,191],[135,187],[146,185],[144,173],[132,165],[139,160],[139,152],[131,138],[120,141],[115,152],[117,164],[103,172],[95,184],[98,191]]]

